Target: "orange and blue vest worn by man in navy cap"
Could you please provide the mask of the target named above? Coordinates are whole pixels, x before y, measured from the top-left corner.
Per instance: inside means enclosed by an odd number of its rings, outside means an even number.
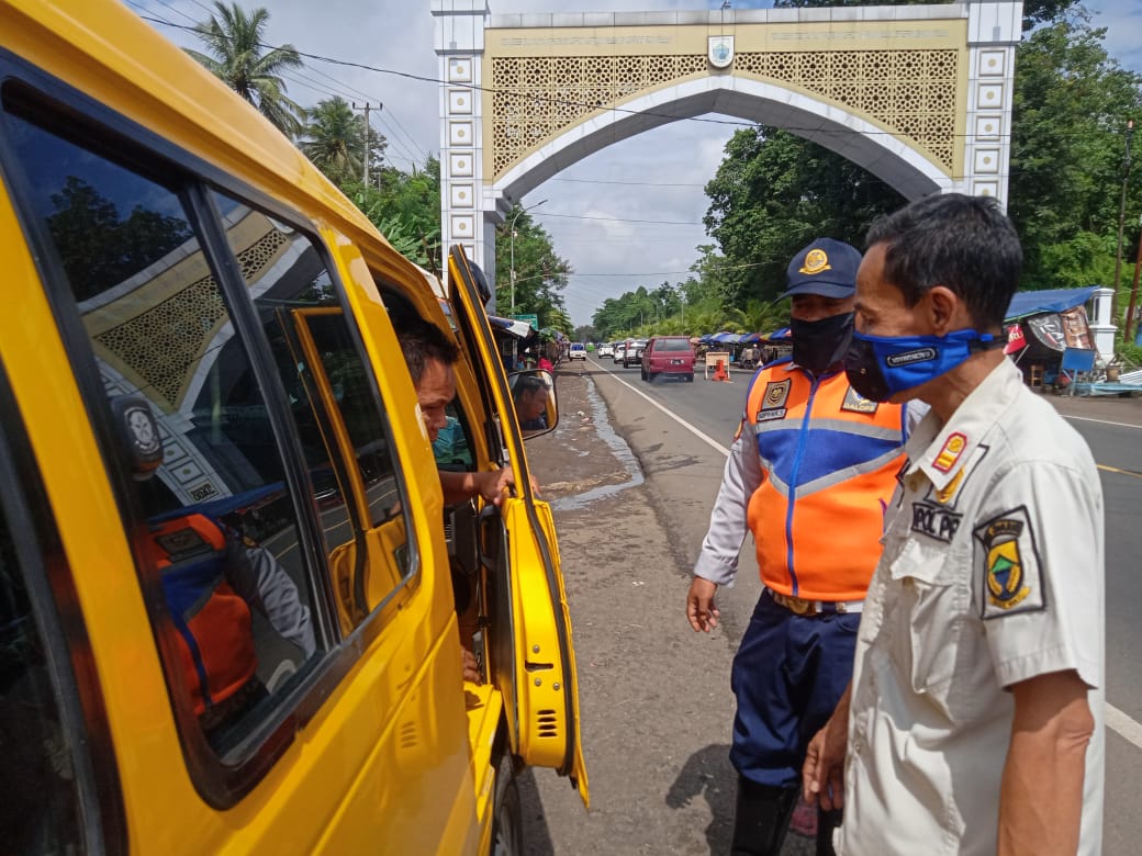
[[[788,358],[750,383],[762,484],[747,519],[762,582],[810,600],[862,600],[903,463],[904,410],[859,396],[844,372],[814,379]]]

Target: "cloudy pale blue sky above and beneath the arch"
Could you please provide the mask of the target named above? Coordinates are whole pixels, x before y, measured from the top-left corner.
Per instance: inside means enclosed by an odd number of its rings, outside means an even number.
[[[204,21],[211,0],[124,0],[129,8],[183,27]],[[228,1],[228,0],[227,0]],[[270,43],[291,43],[304,54],[386,71],[307,58],[286,75],[289,96],[311,106],[339,95],[363,105],[373,127],[388,138],[387,156],[410,170],[440,152],[437,57],[428,0],[239,0],[270,11]],[[488,0],[491,13],[658,11],[719,8],[721,0]],[[735,9],[767,8],[769,0],[732,0]],[[1142,72],[1142,3],[1085,0],[1095,26],[1108,27],[1107,49],[1123,65]],[[152,22],[180,46],[194,37]],[[429,80],[415,80],[403,74]],[[722,161],[733,126],[681,121],[609,146],[530,191],[522,204],[552,236],[555,251],[574,273],[564,291],[576,325],[589,324],[609,297],[640,285],[681,282],[710,243],[701,225],[702,191]],[[500,272],[505,274],[505,272]]]

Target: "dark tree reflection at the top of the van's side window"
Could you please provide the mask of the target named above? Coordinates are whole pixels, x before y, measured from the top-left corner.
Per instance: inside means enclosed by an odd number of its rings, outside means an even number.
[[[79,299],[94,297],[192,237],[186,220],[136,207],[127,217],[89,184],[69,176],[51,194],[48,228]]]

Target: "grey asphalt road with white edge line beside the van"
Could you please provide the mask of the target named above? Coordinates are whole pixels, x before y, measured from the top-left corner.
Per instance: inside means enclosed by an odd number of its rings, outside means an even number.
[[[603,470],[581,482],[571,477],[553,491],[576,621],[594,808],[584,816],[561,782],[544,772],[529,777],[525,805],[538,824],[531,832],[540,833],[540,846],[529,849],[724,853],[733,791],[724,757],[733,714],[729,664],[759,593],[748,540],[738,584],[719,592],[719,630],[694,636],[682,611],[750,373],[732,372],[731,383],[703,381],[700,373],[693,383],[646,383],[637,369],[605,358],[562,370],[572,372],[594,404],[586,412],[564,410],[561,428],[529,446],[529,460],[541,455],[546,443],[560,449],[571,471],[577,455],[593,462],[584,469]],[[1104,853],[1126,856],[1136,853],[1135,831],[1142,827],[1134,799],[1142,765],[1142,670],[1132,665],[1142,644],[1142,587],[1135,582],[1142,556],[1142,399],[1052,397],[1052,403],[1089,443],[1107,500],[1113,722]],[[542,463],[533,466],[542,476]],[[587,567],[577,572],[577,565]],[[618,629],[629,624],[633,631]],[[656,652],[665,655],[662,663],[632,668],[632,659],[648,653],[653,659]],[[648,698],[653,703],[645,706]]]

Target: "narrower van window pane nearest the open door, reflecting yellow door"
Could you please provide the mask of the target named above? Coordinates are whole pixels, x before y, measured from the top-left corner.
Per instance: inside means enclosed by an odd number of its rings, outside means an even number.
[[[412,572],[377,385],[313,241],[256,208],[211,195],[298,426],[348,633]]]

